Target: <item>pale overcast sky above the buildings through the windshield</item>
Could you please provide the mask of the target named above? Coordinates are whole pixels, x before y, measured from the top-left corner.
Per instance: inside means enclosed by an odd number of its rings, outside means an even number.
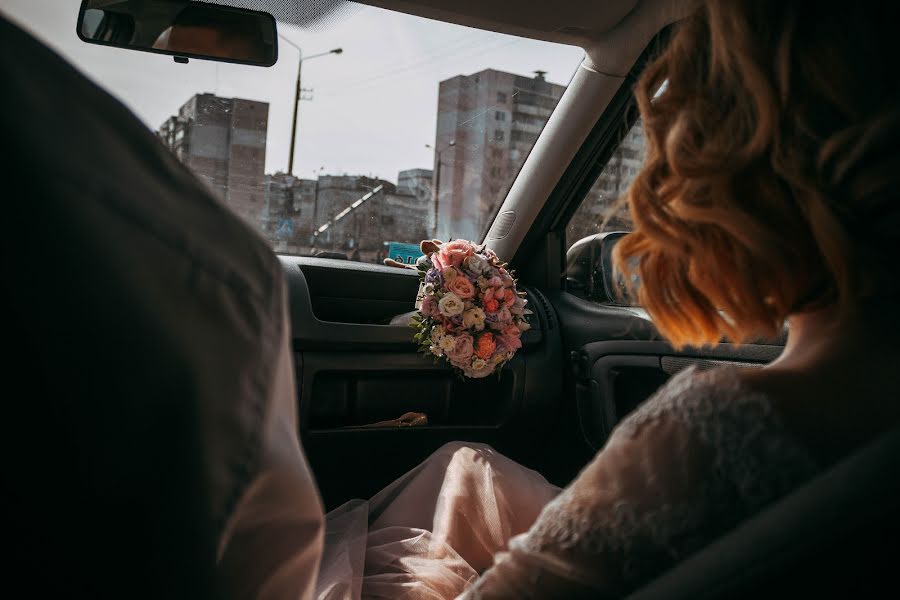
[[[269,102],[266,172],[287,169],[298,52],[281,43],[278,64],[247,67],[85,44],[75,35],[79,0],[2,0],[0,11],[26,26],[157,129],[196,93]],[[319,29],[322,29],[319,27]],[[580,48],[523,40],[357,6],[323,31],[279,24],[312,55],[344,53],[303,64],[295,172],[313,177],[363,174],[395,181],[397,172],[431,168],[438,82],[487,68],[567,84]]]

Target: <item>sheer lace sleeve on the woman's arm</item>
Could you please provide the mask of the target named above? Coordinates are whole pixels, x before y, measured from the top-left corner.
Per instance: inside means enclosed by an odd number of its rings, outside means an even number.
[[[464,598],[618,597],[816,470],[733,369],[673,378]]]

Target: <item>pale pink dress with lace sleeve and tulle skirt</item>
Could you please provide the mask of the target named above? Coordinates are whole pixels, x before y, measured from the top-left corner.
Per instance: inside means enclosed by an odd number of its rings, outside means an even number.
[[[687,369],[565,490],[449,444],[327,517],[319,599],[618,597],[819,466],[736,369]]]

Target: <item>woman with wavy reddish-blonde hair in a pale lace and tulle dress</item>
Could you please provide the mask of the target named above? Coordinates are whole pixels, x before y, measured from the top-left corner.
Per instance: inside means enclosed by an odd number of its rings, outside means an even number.
[[[490,447],[444,446],[327,516],[320,599],[621,596],[898,425],[885,10],[707,0],[636,86],[649,152],[618,264],[638,260],[676,347],[787,322],[783,355],[680,373],[564,490]]]

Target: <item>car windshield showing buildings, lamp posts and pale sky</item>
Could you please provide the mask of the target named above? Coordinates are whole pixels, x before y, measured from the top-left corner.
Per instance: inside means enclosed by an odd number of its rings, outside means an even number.
[[[410,262],[421,239],[479,240],[582,50],[348,6],[310,28],[279,22],[271,68],[86,44],[73,0],[2,11],[129,106],[278,253]]]

